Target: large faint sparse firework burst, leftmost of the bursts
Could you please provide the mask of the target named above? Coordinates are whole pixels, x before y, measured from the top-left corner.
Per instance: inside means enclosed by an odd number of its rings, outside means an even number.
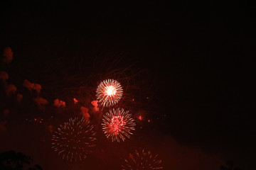
[[[81,161],[92,152],[92,147],[95,147],[93,128],[93,125],[84,118],[70,118],[54,132],[52,148],[63,159],[70,162]]]

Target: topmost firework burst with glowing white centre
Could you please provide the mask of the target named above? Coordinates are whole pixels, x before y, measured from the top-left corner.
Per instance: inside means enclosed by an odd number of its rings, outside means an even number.
[[[107,79],[97,86],[97,101],[102,106],[114,106],[122,97],[123,90],[121,84],[114,79]]]

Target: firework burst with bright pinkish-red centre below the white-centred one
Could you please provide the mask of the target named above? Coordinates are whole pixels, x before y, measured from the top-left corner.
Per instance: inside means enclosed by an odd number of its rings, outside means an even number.
[[[107,138],[111,138],[112,142],[119,142],[120,139],[124,141],[126,137],[132,135],[132,130],[134,129],[135,123],[132,115],[129,111],[124,111],[124,109],[112,109],[106,115],[103,115],[102,119],[102,129]]]

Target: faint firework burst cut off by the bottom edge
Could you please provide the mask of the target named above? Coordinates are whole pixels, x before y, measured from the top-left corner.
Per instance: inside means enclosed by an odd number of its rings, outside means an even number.
[[[124,160],[122,170],[153,170],[163,169],[161,160],[157,159],[157,154],[153,155],[150,151],[144,149],[135,150],[135,153],[129,154],[129,157]]]

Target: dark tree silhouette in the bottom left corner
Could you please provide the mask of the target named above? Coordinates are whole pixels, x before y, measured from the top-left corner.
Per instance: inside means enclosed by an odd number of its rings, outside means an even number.
[[[2,152],[0,153],[1,170],[43,170],[38,164],[31,165],[33,159],[21,152]]]

